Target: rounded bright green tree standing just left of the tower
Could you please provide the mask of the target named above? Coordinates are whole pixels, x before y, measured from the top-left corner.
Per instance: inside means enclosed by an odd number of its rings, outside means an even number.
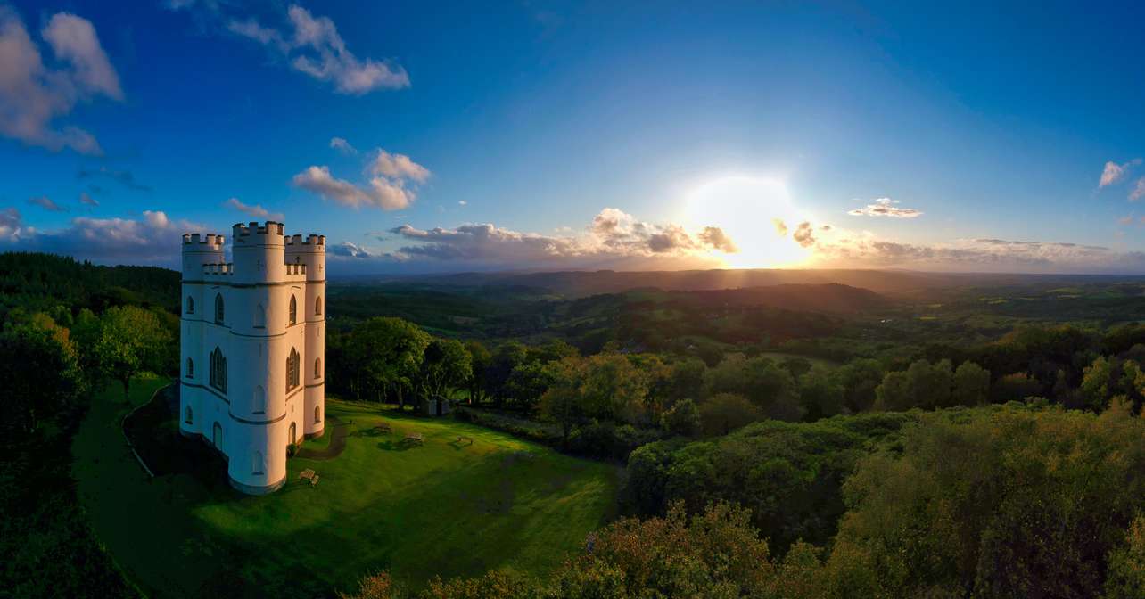
[[[124,386],[128,401],[132,377],[145,369],[161,369],[171,333],[155,313],[135,306],[108,308],[100,316],[98,336],[92,352],[100,371]]]

